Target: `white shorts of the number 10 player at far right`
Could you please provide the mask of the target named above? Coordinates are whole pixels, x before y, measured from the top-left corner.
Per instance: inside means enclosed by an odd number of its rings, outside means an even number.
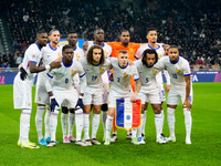
[[[167,96],[167,104],[168,105],[179,105],[180,98],[183,103],[185,98],[186,98],[186,86],[171,85],[169,94]],[[191,104],[192,104],[192,98],[193,98],[192,87],[190,87],[189,100],[190,100]]]

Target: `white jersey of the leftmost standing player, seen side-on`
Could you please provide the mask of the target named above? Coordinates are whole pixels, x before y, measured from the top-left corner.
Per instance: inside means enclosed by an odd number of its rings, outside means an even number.
[[[27,81],[34,81],[34,76],[35,76],[35,73],[30,72],[29,63],[32,62],[39,65],[41,58],[42,58],[42,53],[38,43],[33,43],[27,49],[23,61],[22,61],[23,69],[28,73]]]

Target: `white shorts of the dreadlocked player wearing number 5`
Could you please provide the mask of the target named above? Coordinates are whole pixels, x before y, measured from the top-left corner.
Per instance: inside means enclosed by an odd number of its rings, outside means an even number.
[[[137,94],[137,98],[141,100],[141,104],[145,104],[145,103],[161,104],[161,96],[159,92],[156,92],[156,93],[139,92]]]

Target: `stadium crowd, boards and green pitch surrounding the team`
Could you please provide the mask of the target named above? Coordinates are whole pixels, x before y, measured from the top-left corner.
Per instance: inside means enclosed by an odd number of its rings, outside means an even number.
[[[220,0],[1,0],[0,84],[12,84],[17,66],[40,28],[48,31],[56,28],[62,39],[74,28],[84,40],[92,40],[93,31],[103,28],[105,41],[118,41],[120,30],[128,29],[131,42],[146,43],[148,27],[158,29],[159,42],[179,45],[180,55],[191,65],[192,81],[221,82],[220,7]],[[25,151],[17,146],[20,112],[13,110],[12,85],[0,85],[0,165],[221,165],[221,84],[197,83],[193,91],[191,146],[183,144],[179,105],[175,144],[155,143],[154,114],[148,108],[144,147],[130,145],[125,139],[126,133],[119,131],[119,142],[108,148],[83,149],[61,144],[54,149]],[[33,104],[30,139],[36,142],[34,116]],[[102,133],[99,127],[98,139]],[[164,133],[168,135],[166,118]],[[57,139],[62,142],[60,123]]]

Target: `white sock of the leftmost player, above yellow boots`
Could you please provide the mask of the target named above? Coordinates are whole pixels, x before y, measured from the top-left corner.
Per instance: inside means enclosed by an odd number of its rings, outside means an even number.
[[[31,110],[22,110],[20,116],[20,136],[19,139],[23,143],[29,142]]]

